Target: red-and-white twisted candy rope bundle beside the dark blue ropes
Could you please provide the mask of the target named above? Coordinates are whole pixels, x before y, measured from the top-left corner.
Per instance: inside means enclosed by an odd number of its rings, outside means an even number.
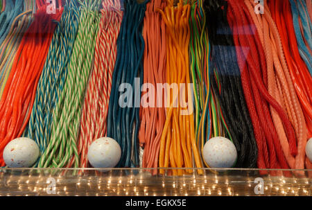
[[[116,40],[123,17],[121,2],[104,0],[101,15],[94,53],[94,69],[90,76],[80,123],[80,168],[87,167],[87,151],[91,143],[106,134],[108,102],[116,61]]]

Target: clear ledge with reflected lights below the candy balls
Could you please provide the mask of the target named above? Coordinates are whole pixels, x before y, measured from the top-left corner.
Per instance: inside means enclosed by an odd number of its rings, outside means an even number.
[[[165,175],[153,176],[146,168],[84,168],[83,173],[81,168],[2,168],[0,195],[311,196],[311,170],[201,168],[198,175],[198,168],[192,169],[193,175],[166,175],[167,168]]]

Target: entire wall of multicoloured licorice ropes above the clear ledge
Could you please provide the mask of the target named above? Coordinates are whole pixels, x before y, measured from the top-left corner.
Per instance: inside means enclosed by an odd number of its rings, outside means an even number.
[[[0,3],[1,166],[312,169],[311,0]]]

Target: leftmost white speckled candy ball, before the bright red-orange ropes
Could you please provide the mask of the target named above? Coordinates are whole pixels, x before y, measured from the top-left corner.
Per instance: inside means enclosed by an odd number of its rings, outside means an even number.
[[[24,137],[10,141],[3,150],[3,159],[10,168],[29,168],[38,157],[37,143]]]

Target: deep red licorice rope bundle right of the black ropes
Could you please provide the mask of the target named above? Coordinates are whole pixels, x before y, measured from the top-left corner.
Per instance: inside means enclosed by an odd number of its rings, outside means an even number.
[[[287,136],[291,144],[291,155],[297,155],[295,133],[284,110],[266,90],[266,82],[263,82],[263,76],[266,76],[267,73],[263,47],[257,31],[253,30],[254,28],[250,28],[254,23],[243,1],[229,1],[228,19],[230,26],[234,30],[234,42],[236,43],[239,58],[245,98],[248,102],[255,136],[259,143],[259,150],[261,150],[259,153],[266,153],[266,147],[263,146],[265,144],[264,139],[266,139],[270,150],[270,164],[266,166],[269,168],[278,168],[279,166],[288,168],[267,103],[277,110],[286,127]],[[261,132],[263,132],[265,137],[259,136]],[[259,159],[262,158],[259,156]],[[259,168],[263,167],[263,163],[261,164]]]

